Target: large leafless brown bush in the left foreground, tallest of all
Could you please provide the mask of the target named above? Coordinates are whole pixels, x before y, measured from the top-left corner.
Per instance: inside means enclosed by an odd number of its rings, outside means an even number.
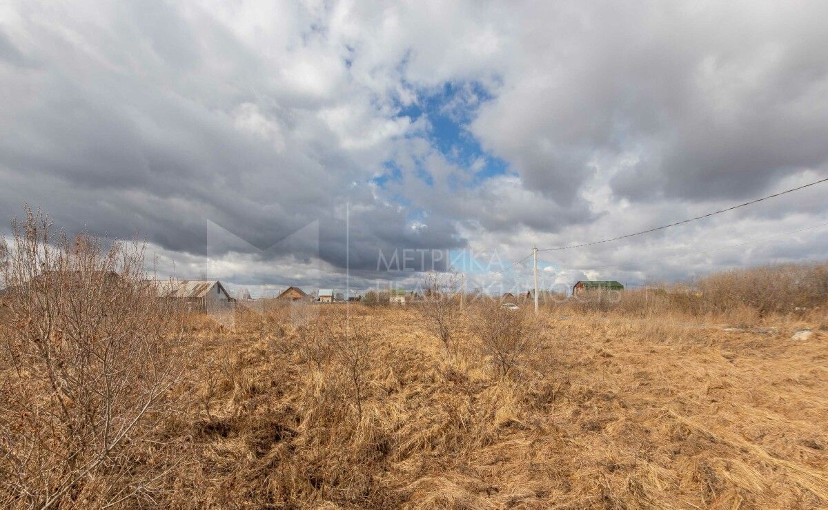
[[[70,242],[28,208],[12,231],[0,319],[0,506],[151,501],[163,469],[139,459],[170,413],[166,392],[180,372],[174,316],[144,282],[142,247],[104,251],[87,233]]]

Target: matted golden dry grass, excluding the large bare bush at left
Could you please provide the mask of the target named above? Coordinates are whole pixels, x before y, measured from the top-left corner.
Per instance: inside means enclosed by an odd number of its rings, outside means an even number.
[[[310,324],[344,328],[344,307],[318,309]],[[468,332],[449,356],[411,309],[351,307],[368,342],[354,383],[321,329],[266,316],[191,331],[164,506],[828,504],[825,331],[547,313],[501,378]]]

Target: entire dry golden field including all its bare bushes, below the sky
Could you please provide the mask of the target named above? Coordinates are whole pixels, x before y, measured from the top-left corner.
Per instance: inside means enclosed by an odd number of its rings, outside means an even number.
[[[4,268],[0,508],[828,507],[825,265],[216,321],[153,298],[138,247],[43,231]]]

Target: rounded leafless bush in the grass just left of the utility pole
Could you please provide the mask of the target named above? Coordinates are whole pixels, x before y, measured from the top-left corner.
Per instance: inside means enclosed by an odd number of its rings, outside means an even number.
[[[495,299],[480,299],[471,314],[471,331],[479,337],[484,354],[492,356],[499,379],[537,350],[540,325],[525,307],[513,310]]]

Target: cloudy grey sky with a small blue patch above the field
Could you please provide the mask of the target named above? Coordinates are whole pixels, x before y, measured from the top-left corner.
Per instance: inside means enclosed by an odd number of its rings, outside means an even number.
[[[0,232],[139,236],[253,295],[527,288],[828,177],[826,2],[0,4]],[[541,252],[542,285],[828,253],[828,184]]]

